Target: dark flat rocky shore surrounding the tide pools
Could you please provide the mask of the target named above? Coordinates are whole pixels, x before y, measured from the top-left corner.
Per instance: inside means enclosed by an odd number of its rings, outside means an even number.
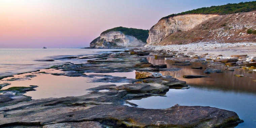
[[[36,86],[16,87],[0,90],[0,127],[227,127],[242,123],[233,111],[209,106],[170,106],[166,109],[145,109],[128,99],[149,96],[165,96],[169,89],[189,89],[185,81],[158,71],[175,71],[166,65],[153,65],[145,57],[171,59],[179,65],[201,62],[209,65],[205,73],[222,73],[223,70],[211,65],[227,65],[232,68],[255,70],[255,58],[247,55],[232,57],[211,54],[181,53],[171,50],[127,50],[93,56],[84,64],[66,63],[51,68],[63,71],[52,75],[70,77],[90,77],[94,82],[118,83],[125,85],[102,85],[90,88],[87,95],[63,98],[31,100],[27,91],[35,91]],[[90,57],[92,58],[92,57]],[[74,59],[87,59],[76,57]],[[194,67],[200,69],[200,67]],[[136,70],[136,79],[111,75],[87,73],[130,72]],[[39,72],[38,72],[39,73]],[[44,72],[41,72],[44,73]],[[11,77],[11,76],[10,76]],[[28,76],[29,77],[29,76]],[[186,75],[184,78],[208,77]],[[8,79],[6,77],[5,79]],[[8,86],[3,84],[1,86]],[[17,100],[18,99],[18,100]]]

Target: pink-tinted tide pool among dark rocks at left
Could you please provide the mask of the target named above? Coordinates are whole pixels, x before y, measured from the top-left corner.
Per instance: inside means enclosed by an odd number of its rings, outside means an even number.
[[[61,73],[60,70],[43,69],[40,72],[51,72],[51,73]],[[100,85],[123,85],[128,83],[103,83],[103,82],[91,82],[93,78],[88,77],[68,77],[63,75],[52,75],[44,73],[32,73],[32,75],[37,75],[32,78],[24,79],[26,75],[31,75],[31,73],[25,73],[21,75],[14,75],[14,77],[4,78],[1,83],[10,83],[11,85],[5,86],[3,89],[8,89],[10,87],[29,87],[30,85],[38,86],[36,91],[29,91],[25,95],[31,96],[32,99],[41,98],[60,98],[67,96],[82,96],[86,95],[89,88],[94,88]],[[17,81],[4,81],[11,78],[22,78]]]

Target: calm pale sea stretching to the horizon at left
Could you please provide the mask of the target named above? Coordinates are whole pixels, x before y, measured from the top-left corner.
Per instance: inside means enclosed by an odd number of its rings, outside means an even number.
[[[0,49],[0,76],[35,71],[65,62],[85,63],[87,61],[87,59],[59,59],[52,62],[36,60],[89,56],[115,50],[120,49]]]

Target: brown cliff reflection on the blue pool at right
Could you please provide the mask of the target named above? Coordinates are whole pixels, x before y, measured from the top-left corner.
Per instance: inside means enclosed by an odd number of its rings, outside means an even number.
[[[167,64],[167,68],[181,68],[178,71],[160,71],[163,75],[170,75],[181,81],[186,81],[188,85],[196,88],[218,89],[222,91],[234,91],[234,92],[250,92],[256,93],[256,73],[246,73],[248,70],[243,68],[235,69],[234,71],[226,71],[225,66],[212,66],[211,68],[221,69],[224,73],[211,73],[205,74],[203,71],[207,65],[202,65],[201,62],[192,63],[189,66],[177,66],[172,65],[174,61],[157,59],[154,57],[148,57],[148,62],[152,64]],[[202,69],[192,69],[191,67],[203,67]],[[244,75],[244,77],[234,76],[235,74]],[[183,78],[183,75],[207,75],[206,78]]]

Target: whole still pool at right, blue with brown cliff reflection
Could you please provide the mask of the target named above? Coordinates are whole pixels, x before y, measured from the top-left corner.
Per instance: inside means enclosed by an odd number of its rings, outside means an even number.
[[[129,102],[142,108],[169,108],[175,104],[188,106],[211,106],[235,111],[244,123],[236,127],[256,127],[256,73],[246,73],[247,70],[239,68],[224,73],[203,73],[206,65],[192,63],[190,66],[174,66],[171,60],[155,60],[147,58],[152,64],[167,64],[167,68],[181,68],[178,71],[160,71],[163,75],[171,75],[186,81],[190,89],[170,89],[167,97],[153,96]],[[202,66],[203,69],[191,69]],[[225,69],[225,66],[212,66],[212,68]],[[247,77],[237,77],[234,74],[244,74]],[[186,79],[183,75],[208,75],[206,78]]]

